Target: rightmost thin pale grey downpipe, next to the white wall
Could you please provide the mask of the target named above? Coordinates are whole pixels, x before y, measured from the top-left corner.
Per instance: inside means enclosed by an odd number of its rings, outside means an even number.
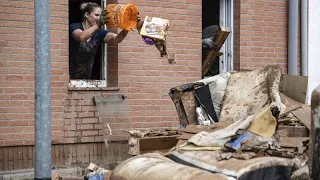
[[[308,76],[308,0],[301,1],[301,73]]]

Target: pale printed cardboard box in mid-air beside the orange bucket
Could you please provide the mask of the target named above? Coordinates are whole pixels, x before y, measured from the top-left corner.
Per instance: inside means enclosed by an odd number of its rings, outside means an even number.
[[[153,39],[166,40],[170,21],[157,17],[146,16],[140,30],[141,36]]]

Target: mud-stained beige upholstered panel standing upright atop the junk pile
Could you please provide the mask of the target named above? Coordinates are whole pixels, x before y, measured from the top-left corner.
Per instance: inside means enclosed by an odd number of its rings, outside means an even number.
[[[234,122],[268,105],[282,110],[284,105],[279,95],[280,77],[279,66],[231,73],[222,101],[219,121]]]

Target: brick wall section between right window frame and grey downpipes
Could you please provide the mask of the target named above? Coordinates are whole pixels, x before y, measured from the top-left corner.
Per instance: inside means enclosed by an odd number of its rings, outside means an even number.
[[[242,0],[234,8],[235,69],[280,64],[286,73],[288,1]]]

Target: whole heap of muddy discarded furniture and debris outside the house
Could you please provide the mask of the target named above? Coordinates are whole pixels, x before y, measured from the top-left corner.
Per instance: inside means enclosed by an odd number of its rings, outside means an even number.
[[[123,161],[110,179],[309,179],[306,79],[272,65],[171,88],[177,143]]]

